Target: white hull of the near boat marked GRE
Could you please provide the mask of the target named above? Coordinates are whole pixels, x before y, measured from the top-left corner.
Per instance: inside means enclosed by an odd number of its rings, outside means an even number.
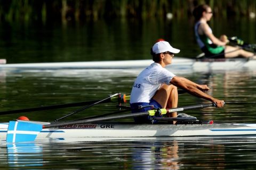
[[[6,138],[7,126],[8,123],[0,124],[1,140],[5,140]],[[36,139],[193,137],[220,135],[256,135],[256,124],[75,124],[43,129]]]

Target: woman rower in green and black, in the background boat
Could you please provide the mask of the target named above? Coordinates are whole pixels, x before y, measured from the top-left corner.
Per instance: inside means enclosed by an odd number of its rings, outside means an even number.
[[[222,35],[220,39],[216,38],[207,21],[212,18],[212,9],[208,5],[199,5],[194,11],[195,16],[195,36],[196,41],[206,57],[211,58],[231,58],[231,57],[255,57],[253,53],[247,52],[239,47],[227,45],[229,42],[226,35]]]

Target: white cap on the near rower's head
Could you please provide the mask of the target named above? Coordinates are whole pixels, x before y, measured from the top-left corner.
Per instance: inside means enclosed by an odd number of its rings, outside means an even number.
[[[180,52],[179,49],[173,48],[167,41],[159,41],[153,47],[152,50],[155,54],[171,52],[177,54]]]

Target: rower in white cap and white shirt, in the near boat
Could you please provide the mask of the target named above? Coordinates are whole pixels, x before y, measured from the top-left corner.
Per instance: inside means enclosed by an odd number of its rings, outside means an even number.
[[[172,63],[174,53],[180,50],[173,48],[167,41],[159,41],[151,48],[154,63],[143,70],[135,80],[130,105],[132,113],[146,112],[154,108],[174,108],[178,106],[178,88],[186,90],[189,94],[215,103],[217,107],[223,107],[224,101],[213,98],[204,93],[210,88],[207,85],[199,85],[186,78],[178,77],[165,69]],[[167,115],[177,117],[177,113]],[[138,123],[150,123],[148,116],[134,118]]]

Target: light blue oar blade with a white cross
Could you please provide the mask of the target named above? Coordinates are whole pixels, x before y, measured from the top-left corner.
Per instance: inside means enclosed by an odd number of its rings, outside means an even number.
[[[7,143],[34,141],[41,132],[41,124],[26,121],[10,121],[6,136]]]

